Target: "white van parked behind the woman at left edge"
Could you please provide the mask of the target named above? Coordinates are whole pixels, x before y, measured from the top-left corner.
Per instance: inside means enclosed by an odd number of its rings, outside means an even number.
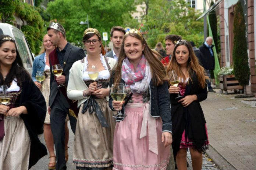
[[[0,35],[3,34],[9,35],[15,39],[23,66],[30,74],[32,74],[34,57],[24,34],[13,25],[0,23]]]

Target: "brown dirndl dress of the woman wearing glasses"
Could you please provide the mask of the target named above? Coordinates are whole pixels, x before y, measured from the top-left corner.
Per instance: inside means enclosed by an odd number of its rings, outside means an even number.
[[[91,82],[93,81],[85,81],[88,86]],[[97,84],[101,84],[102,88],[107,88],[109,80],[98,80]],[[93,98],[91,100],[98,104],[103,113],[100,116],[106,119],[109,127],[102,126],[95,111],[90,113],[88,108],[88,110],[82,113],[84,107],[84,104],[82,104],[79,109],[75,131],[73,163],[75,163],[77,169],[82,170],[94,170],[93,168],[97,170],[110,170],[113,167],[115,127],[115,119],[112,117],[113,111],[110,110],[106,98]]]

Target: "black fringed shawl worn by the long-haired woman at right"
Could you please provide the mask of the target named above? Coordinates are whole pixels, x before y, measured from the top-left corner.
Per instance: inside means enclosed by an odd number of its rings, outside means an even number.
[[[192,81],[189,80],[189,84],[186,85],[186,91],[184,96],[196,95],[198,100],[193,101],[189,106],[183,107],[179,99],[175,99],[177,94],[171,94],[171,115],[173,122],[173,154],[174,158],[177,155],[179,146],[181,143],[182,133],[186,129],[186,135],[194,144],[198,144],[196,150],[204,152],[205,147],[203,143],[207,139],[205,129],[205,117],[203,110],[200,106],[200,101],[207,98],[207,85],[205,88],[200,88],[198,78],[195,74],[192,76]]]

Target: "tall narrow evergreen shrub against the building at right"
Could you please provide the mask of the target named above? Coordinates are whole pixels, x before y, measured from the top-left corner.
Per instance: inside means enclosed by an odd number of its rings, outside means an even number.
[[[249,84],[250,69],[248,63],[247,42],[245,37],[245,18],[241,2],[238,1],[234,10],[234,73],[242,86]]]

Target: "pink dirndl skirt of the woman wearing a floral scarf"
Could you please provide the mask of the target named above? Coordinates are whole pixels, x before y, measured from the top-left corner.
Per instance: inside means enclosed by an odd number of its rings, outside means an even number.
[[[161,142],[161,118],[151,117],[149,108],[148,103],[132,103],[125,106],[126,117],[124,121],[115,125],[114,170],[166,169],[170,158],[170,146],[165,148],[164,143]],[[145,117],[147,119],[147,125],[143,128],[145,136],[141,137]],[[151,127],[154,127],[155,130],[150,130]],[[152,142],[154,149],[152,149]]]

